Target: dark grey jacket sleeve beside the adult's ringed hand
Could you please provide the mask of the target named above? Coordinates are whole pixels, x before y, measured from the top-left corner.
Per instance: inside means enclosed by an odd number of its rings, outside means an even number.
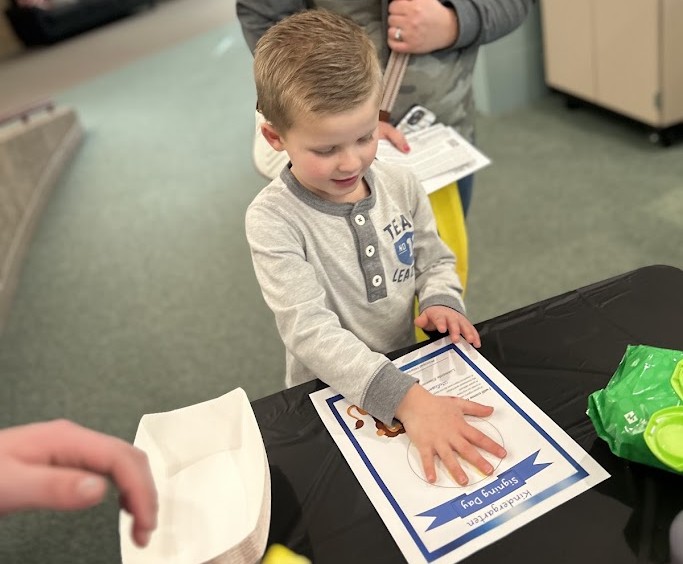
[[[446,0],[455,10],[460,25],[452,48],[491,43],[517,29],[535,0]]]

